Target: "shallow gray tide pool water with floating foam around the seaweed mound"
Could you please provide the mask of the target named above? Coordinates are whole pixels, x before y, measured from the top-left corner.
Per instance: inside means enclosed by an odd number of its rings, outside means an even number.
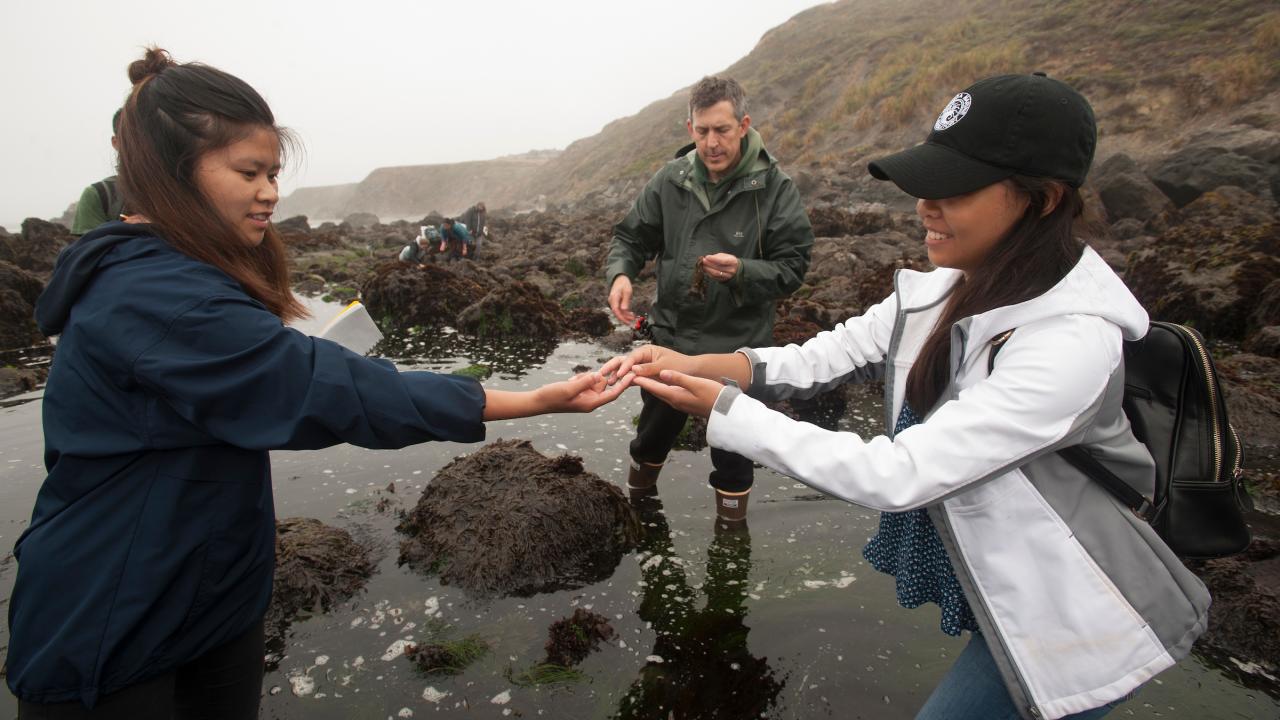
[[[389,355],[404,369],[488,365],[486,384],[524,389],[595,368],[613,355],[593,343],[481,342],[449,331],[398,333]],[[38,392],[0,409],[0,547],[26,527],[44,478]],[[861,400],[842,429],[874,434],[882,409]],[[625,486],[639,391],[590,415],[490,423],[488,439],[522,438],[548,455],[571,452]],[[398,511],[434,473],[479,445],[398,451],[338,446],[273,454],[276,512],[349,530],[375,548],[365,591],[300,619],[269,648],[262,717],[865,717],[909,719],[965,639],[938,630],[936,606],[904,610],[892,579],[861,560],[874,512],[756,469],[744,528],[717,528],[707,451],[672,454],[658,495],[637,505],[645,536],[599,583],[532,597],[477,601],[396,564]],[[388,489],[394,486],[394,492]],[[0,564],[8,598],[15,566]],[[529,685],[548,628],[576,609],[614,629],[576,682]],[[420,674],[403,647],[477,637],[488,652],[456,675]],[[0,646],[8,629],[0,630]],[[1280,716],[1257,676],[1192,657],[1149,683],[1114,717]],[[1274,691],[1272,691],[1274,692]],[[15,715],[0,693],[0,717]]]

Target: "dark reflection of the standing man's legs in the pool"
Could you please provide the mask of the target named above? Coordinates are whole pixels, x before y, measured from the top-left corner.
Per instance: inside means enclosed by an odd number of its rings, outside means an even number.
[[[746,593],[751,536],[746,523],[716,521],[707,548],[705,606],[696,607],[671,528],[654,495],[632,503],[644,524],[640,543],[644,597],[640,619],[657,639],[653,656],[618,703],[621,720],[760,717],[774,706],[783,679],[748,648]],[[658,660],[660,657],[660,661]]]

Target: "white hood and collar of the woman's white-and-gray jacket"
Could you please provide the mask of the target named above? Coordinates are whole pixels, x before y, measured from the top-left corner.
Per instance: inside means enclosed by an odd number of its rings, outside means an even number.
[[[951,269],[900,270],[896,282],[904,306],[918,307],[950,292],[959,278],[960,272]],[[1059,315],[1096,315],[1117,325],[1125,340],[1146,336],[1151,320],[1115,270],[1085,246],[1071,272],[1043,295],[961,320],[968,337],[965,361],[1005,331]]]

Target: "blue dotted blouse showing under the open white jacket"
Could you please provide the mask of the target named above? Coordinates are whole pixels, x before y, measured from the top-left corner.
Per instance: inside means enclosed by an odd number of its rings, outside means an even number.
[[[911,407],[902,405],[893,434],[919,421]],[[863,548],[863,557],[872,568],[893,575],[897,602],[902,607],[933,602],[942,609],[943,633],[959,635],[960,630],[978,630],[978,620],[960,589],[938,530],[923,507],[906,512],[881,512],[879,530]]]

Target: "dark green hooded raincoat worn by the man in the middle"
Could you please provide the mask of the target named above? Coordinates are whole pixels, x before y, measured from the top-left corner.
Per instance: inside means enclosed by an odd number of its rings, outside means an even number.
[[[755,129],[742,142],[742,159],[718,183],[694,150],[667,163],[613,228],[611,287],[657,259],[649,320],[658,345],[686,354],[771,346],[777,301],[804,282],[813,229],[800,193]],[[737,274],[707,278],[698,297],[690,292],[698,259],[716,252],[736,255]]]

